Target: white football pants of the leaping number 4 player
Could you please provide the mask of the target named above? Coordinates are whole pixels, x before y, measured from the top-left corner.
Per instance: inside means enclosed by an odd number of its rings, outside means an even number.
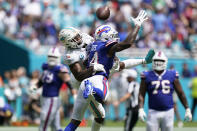
[[[84,99],[83,90],[85,89],[86,80],[89,80],[95,88],[103,92],[104,101],[108,97],[108,80],[104,76],[95,75],[83,80],[74,103],[72,119],[81,121],[87,108],[91,110],[95,118],[105,118],[105,109],[101,103],[97,102],[92,95],[90,95],[88,99]]]

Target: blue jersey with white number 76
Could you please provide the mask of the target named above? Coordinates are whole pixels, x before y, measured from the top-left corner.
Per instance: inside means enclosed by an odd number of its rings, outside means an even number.
[[[154,71],[143,72],[148,92],[150,109],[165,111],[173,108],[174,80],[178,78],[175,70],[165,70],[160,76]]]

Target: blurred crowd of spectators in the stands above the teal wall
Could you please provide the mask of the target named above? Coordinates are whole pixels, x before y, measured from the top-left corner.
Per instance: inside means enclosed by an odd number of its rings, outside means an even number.
[[[31,34],[36,31],[36,41],[34,40],[34,44],[30,45],[58,44],[55,32],[66,26],[75,26],[83,32],[94,31],[95,27],[101,24],[101,21],[96,19],[95,10],[106,2],[111,9],[107,22],[113,23],[117,31],[122,32],[121,40],[126,35],[123,30],[125,27],[121,26],[128,26],[129,16],[138,12],[138,9],[145,8],[149,12],[150,21],[147,21],[146,26],[139,33],[140,41],[136,41],[137,48],[169,48],[174,49],[170,51],[175,55],[182,55],[179,50],[193,51],[195,48],[197,17],[194,12],[197,6],[193,0],[181,2],[177,0],[2,1],[0,33],[6,32],[6,36],[24,40],[26,45],[29,45],[32,41]],[[130,27],[126,28],[130,29]],[[174,36],[177,37],[175,41]],[[32,46],[27,47],[32,48]],[[42,50],[39,51],[39,53],[42,52]]]

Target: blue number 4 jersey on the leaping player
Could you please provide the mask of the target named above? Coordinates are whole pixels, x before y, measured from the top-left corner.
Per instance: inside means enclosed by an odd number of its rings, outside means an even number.
[[[109,77],[109,70],[113,66],[115,54],[112,57],[107,56],[109,49],[116,44],[115,41],[95,41],[91,44],[89,57],[88,57],[88,67],[91,66],[92,63],[102,64],[105,68],[105,72],[97,72],[95,75],[103,75],[105,77]]]

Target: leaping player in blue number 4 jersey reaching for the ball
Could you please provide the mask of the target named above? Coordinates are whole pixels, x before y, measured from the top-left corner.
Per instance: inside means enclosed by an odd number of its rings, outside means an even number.
[[[119,42],[118,32],[110,25],[102,25],[96,29],[96,41],[91,44],[87,68],[95,64],[102,64],[105,71],[97,71],[91,77],[81,82],[74,105],[72,120],[65,128],[65,131],[76,130],[87,107],[90,108],[95,116],[91,130],[100,130],[105,118],[105,110],[102,104],[108,96],[108,78],[114,64],[115,53],[131,47],[142,23],[147,19],[145,11],[140,11],[137,18],[132,18],[135,23],[135,29],[129,32],[127,38],[122,42]],[[121,62],[119,70],[133,65],[133,62],[132,60]]]

